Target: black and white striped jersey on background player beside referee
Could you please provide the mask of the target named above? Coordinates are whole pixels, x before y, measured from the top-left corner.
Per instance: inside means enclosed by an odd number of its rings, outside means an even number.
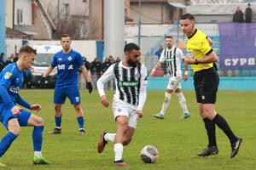
[[[183,57],[183,52],[180,48],[165,48],[162,51],[159,61],[161,63],[166,61],[170,77],[182,77],[181,60]]]

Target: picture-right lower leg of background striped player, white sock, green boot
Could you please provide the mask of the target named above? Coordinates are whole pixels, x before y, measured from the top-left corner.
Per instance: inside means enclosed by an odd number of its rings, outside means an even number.
[[[181,90],[181,85],[180,83],[178,83],[179,85],[177,86],[177,89],[175,90],[175,94],[177,95],[177,99],[179,101],[179,105],[182,107],[183,109],[183,115],[181,117],[179,117],[179,120],[182,120],[182,119],[186,119],[190,116],[189,114],[189,110],[188,110],[188,107],[187,107],[187,104],[186,104],[186,99],[183,95],[183,92]]]

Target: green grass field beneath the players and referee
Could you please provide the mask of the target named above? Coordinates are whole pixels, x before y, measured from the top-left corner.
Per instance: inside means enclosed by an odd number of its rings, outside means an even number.
[[[113,91],[108,91],[111,101]],[[184,91],[191,116],[179,121],[182,110],[177,96],[166,111],[164,120],[156,120],[152,114],[160,111],[164,99],[163,91],[148,91],[143,109],[143,119],[137,124],[137,130],[131,144],[125,146],[123,158],[129,167],[113,167],[113,144],[108,143],[102,154],[96,152],[96,145],[102,130],[116,131],[111,108],[105,108],[100,102],[97,91],[88,94],[81,91],[82,106],[85,115],[87,135],[79,134],[79,125],[73,106],[69,100],[63,105],[62,133],[47,134],[55,127],[53,90],[21,90],[20,95],[31,104],[42,105],[42,111],[36,113],[44,118],[44,144],[42,153],[50,165],[32,164],[32,127],[22,127],[20,136],[3,156],[6,169],[256,169],[256,92],[218,92],[216,110],[229,122],[237,136],[244,139],[238,155],[230,159],[230,143],[217,127],[218,156],[198,157],[196,153],[207,147],[207,133],[198,114],[195,93]],[[7,133],[1,123],[0,136]],[[160,152],[159,160],[154,164],[145,164],[139,154],[143,146],[152,144]]]

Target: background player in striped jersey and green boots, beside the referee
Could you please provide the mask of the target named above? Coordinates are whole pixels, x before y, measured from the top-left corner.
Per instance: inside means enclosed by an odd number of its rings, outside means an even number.
[[[172,92],[175,91],[179,104],[183,109],[183,115],[179,118],[180,120],[182,120],[190,116],[189,110],[186,104],[186,99],[183,96],[183,93],[181,91],[181,84],[180,84],[180,81],[182,78],[182,71],[180,67],[181,67],[181,60],[183,59],[183,52],[180,48],[173,47],[172,36],[167,36],[165,43],[167,48],[163,50],[160,56],[159,62],[157,63],[157,65],[154,66],[149,76],[154,77],[154,71],[160,68],[161,64],[164,61],[166,61],[170,79],[166,88],[166,97],[162,105],[162,110],[160,111],[160,113],[156,113],[153,116],[159,119],[165,118],[166,109],[171,102]],[[183,79],[184,81],[188,80],[188,65],[185,65],[185,72],[184,72]]]

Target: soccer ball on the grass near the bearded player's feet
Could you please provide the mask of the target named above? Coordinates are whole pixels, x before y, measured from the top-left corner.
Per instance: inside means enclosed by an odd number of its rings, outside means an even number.
[[[141,158],[145,163],[154,163],[158,159],[158,156],[158,150],[152,145],[143,147],[141,151]]]

